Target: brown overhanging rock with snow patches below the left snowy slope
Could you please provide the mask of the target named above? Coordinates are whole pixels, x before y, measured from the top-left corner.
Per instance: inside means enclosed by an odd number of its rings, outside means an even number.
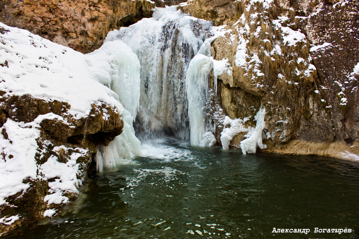
[[[26,160],[34,168],[34,172],[27,170],[32,176],[22,182],[27,189],[6,197],[0,205],[1,217],[19,218],[11,225],[0,224],[0,234],[25,224],[32,226],[45,216],[46,210],[51,212],[73,200],[87,178],[90,162],[97,152],[95,145],[107,145],[121,134],[123,120],[111,106],[103,102],[93,104],[90,114],[80,119],[67,114],[70,107],[30,95],[1,97],[0,138],[1,147],[5,147],[2,151],[5,164],[18,160],[8,152],[11,147],[22,145],[16,140],[22,139],[21,135],[24,140],[34,141],[31,147],[24,141],[24,147],[36,153],[33,159],[27,154]],[[32,138],[29,133],[33,134]],[[65,172],[69,177],[63,175]]]

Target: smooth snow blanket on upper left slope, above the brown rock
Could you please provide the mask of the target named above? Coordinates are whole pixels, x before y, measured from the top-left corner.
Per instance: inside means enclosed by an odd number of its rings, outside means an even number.
[[[116,95],[101,85],[90,71],[87,57],[69,47],[53,43],[27,30],[12,28],[0,35],[0,90],[4,96],[29,94],[45,101],[58,100],[71,105],[68,114],[79,119],[90,112],[91,104],[103,101],[122,107]],[[98,59],[99,66],[106,61]]]

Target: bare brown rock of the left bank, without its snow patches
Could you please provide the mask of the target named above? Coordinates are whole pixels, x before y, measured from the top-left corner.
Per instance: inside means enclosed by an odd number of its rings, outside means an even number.
[[[58,162],[66,163],[73,153],[77,153],[80,157],[76,159],[76,164],[79,167],[76,177],[83,182],[87,178],[90,162],[97,152],[95,144],[108,145],[111,140],[121,134],[123,119],[116,109],[103,102],[93,104],[89,116],[80,119],[73,119],[70,114],[66,114],[70,108],[71,106],[67,103],[47,102],[35,99],[30,95],[2,96],[0,99],[0,123],[3,126],[8,119],[28,123],[38,116],[48,113],[54,113],[64,118],[64,120],[42,120],[39,128],[40,137],[36,139],[38,151],[35,154],[35,161],[38,167],[41,167],[41,164],[47,162],[50,157],[56,157]],[[1,134],[8,139],[5,128]],[[3,156],[5,158],[5,154]],[[8,158],[12,157],[10,155]],[[50,193],[48,182],[53,182],[58,178],[46,179],[41,171],[37,173],[37,179],[25,179],[24,183],[30,185],[26,191],[9,196],[5,199],[7,204],[0,206],[2,217],[18,214],[21,216],[20,220],[11,225],[0,224],[0,235],[23,225],[31,227],[36,220],[43,218],[45,210],[61,206],[61,204],[47,205],[44,202],[44,197]],[[63,192],[63,196],[74,200],[77,195],[75,192],[66,191]]]

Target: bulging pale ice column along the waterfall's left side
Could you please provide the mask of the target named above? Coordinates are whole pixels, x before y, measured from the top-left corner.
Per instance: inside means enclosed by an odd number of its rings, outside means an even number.
[[[97,171],[132,163],[131,158],[141,153],[141,143],[132,126],[140,103],[140,62],[120,40],[105,42],[101,48],[86,55],[95,78],[117,94],[124,106],[123,132],[108,146],[100,145],[95,156]],[[99,67],[98,61],[102,60]]]

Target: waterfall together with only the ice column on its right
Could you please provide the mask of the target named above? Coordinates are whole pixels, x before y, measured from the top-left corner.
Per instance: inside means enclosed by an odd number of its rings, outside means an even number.
[[[141,138],[169,134],[190,138],[192,145],[201,147],[215,144],[203,106],[210,72],[214,71],[215,82],[223,72],[232,73],[228,59],[211,57],[211,43],[224,34],[222,28],[171,6],[156,8],[152,18],[108,33],[105,44],[123,41],[141,63],[136,119]]]

